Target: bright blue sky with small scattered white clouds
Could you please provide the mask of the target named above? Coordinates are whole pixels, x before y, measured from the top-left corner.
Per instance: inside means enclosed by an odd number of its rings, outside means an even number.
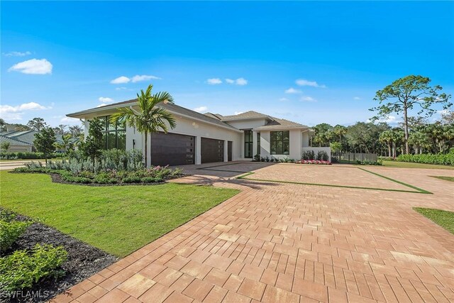
[[[2,1],[1,117],[77,123],[65,114],[153,83],[201,112],[366,121],[399,77],[453,94],[453,16],[452,1]]]

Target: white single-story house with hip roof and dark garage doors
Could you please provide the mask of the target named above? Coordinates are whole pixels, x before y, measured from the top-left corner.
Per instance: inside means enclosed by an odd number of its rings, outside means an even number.
[[[106,149],[139,149],[144,137],[135,128],[111,125],[109,116],[118,108],[134,109],[137,99],[87,109],[73,114],[71,118],[81,119],[88,135],[89,120],[100,118],[104,121],[104,144]],[[262,157],[301,159],[303,150],[326,150],[309,148],[311,128],[300,123],[279,119],[256,111],[247,111],[233,116],[221,114],[200,114],[176,104],[159,104],[174,116],[177,126],[169,133],[152,133],[148,140],[151,162],[148,165],[184,165],[208,162],[251,160],[254,155]],[[136,107],[137,108],[137,107]]]

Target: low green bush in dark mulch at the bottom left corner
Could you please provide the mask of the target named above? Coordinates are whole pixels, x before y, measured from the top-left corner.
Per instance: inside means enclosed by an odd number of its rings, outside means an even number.
[[[16,250],[0,258],[0,288],[6,292],[30,288],[43,277],[60,277],[58,270],[67,259],[64,248],[50,245],[36,246],[32,250]]]

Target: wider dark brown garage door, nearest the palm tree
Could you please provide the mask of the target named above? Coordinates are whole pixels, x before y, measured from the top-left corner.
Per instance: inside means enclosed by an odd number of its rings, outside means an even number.
[[[195,138],[176,133],[152,133],[152,165],[194,164]]]

